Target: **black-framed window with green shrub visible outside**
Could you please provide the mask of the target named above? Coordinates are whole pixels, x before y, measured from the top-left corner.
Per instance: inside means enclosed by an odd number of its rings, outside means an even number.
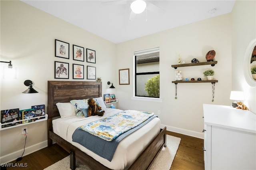
[[[160,97],[159,47],[134,52],[135,96]]]

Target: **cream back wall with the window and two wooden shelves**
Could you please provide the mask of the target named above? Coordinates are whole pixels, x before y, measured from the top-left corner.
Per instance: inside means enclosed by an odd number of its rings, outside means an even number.
[[[160,110],[163,126],[167,130],[180,132],[196,137],[203,137],[203,109],[202,104],[230,105],[230,91],[232,88],[231,72],[231,15],[226,14],[208,20],[195,22],[186,26],[152,34],[128,42],[117,44],[116,60],[117,69],[130,68],[130,85],[116,85],[117,97],[120,109],[137,109],[141,111]],[[160,98],[162,103],[151,101],[132,100],[133,95],[133,53],[143,49],[160,47]],[[212,67],[193,66],[180,67],[184,78],[197,79],[203,77],[203,71],[208,68],[216,72],[214,102],[212,102],[211,83],[180,83],[177,85],[177,97],[175,97],[174,81],[175,69],[171,67],[178,64],[178,54],[181,60],[191,63],[191,59],[206,61],[205,55],[214,49],[214,60],[218,63]],[[118,74],[116,74],[118,79]]]

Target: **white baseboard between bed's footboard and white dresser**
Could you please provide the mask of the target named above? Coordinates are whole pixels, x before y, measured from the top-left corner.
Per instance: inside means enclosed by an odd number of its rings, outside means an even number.
[[[161,128],[164,128],[164,127],[166,127],[166,130],[171,131],[171,132],[176,132],[176,133],[185,134],[188,136],[204,139],[204,133],[195,132],[192,130],[186,130],[186,129],[182,129],[182,128],[177,128],[177,127],[171,127],[171,126],[161,124]]]

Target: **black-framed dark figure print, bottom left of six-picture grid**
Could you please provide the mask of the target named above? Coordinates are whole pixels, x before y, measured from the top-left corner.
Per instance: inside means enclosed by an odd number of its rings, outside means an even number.
[[[55,61],[54,79],[69,79],[69,63]]]

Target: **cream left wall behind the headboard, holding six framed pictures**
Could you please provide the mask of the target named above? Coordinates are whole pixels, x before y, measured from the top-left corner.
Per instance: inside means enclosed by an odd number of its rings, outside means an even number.
[[[32,105],[45,104],[47,107],[47,81],[80,81],[72,79],[72,64],[96,67],[96,77],[102,77],[102,93],[114,93],[108,89],[107,81],[116,84],[112,75],[116,73],[116,45],[90,32],[82,30],[59,18],[42,12],[21,1],[0,1],[1,5],[1,61],[12,61],[17,67],[17,79],[3,79],[1,63],[0,110],[29,109]],[[70,43],[70,59],[54,56],[54,40]],[[96,64],[73,60],[72,45],[96,51]],[[54,79],[54,61],[69,63],[69,79]],[[28,87],[25,80],[34,82],[39,93],[22,93]],[[95,80],[89,80],[95,81]],[[47,111],[47,109],[46,109]],[[28,136],[24,155],[47,146],[47,121],[28,126]],[[22,127],[0,131],[0,162],[8,162],[22,155],[25,136]],[[42,142],[42,143],[41,143]]]

